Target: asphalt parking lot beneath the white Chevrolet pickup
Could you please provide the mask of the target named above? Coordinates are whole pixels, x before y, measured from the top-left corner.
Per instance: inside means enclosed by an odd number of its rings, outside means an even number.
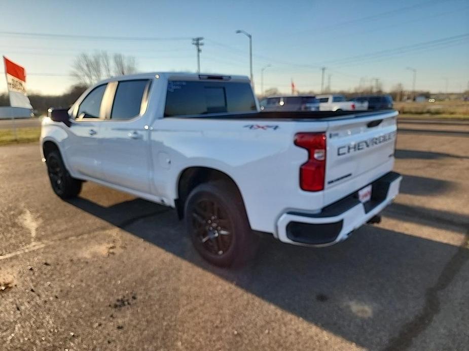
[[[90,182],[63,202],[38,144],[0,147],[0,349],[469,349],[469,126],[400,129],[381,224],[321,249],[264,236],[231,270],[174,211]]]

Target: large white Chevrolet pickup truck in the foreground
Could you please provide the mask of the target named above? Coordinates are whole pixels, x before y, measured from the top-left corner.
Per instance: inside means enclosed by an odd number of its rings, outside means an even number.
[[[328,246],[377,220],[401,182],[397,114],[259,112],[244,76],[136,74],[50,110],[41,152],[61,198],[93,181],[173,207],[197,251],[229,266],[258,232]]]

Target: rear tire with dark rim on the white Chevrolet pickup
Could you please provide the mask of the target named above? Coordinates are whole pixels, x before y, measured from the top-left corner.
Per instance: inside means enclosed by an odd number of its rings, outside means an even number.
[[[229,183],[198,185],[189,194],[184,213],[194,247],[211,264],[242,265],[256,252],[258,237],[249,227],[241,196]]]

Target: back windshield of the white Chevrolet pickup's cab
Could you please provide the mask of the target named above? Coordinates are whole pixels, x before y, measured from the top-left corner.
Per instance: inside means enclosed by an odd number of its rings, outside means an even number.
[[[256,100],[247,82],[168,82],[164,113],[166,117],[256,110]]]

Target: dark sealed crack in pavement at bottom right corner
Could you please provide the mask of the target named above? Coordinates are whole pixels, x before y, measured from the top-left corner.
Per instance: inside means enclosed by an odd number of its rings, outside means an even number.
[[[440,312],[438,292],[445,290],[450,285],[468,260],[469,231],[466,231],[464,243],[458,247],[456,253],[447,262],[438,277],[437,283],[425,291],[425,305],[422,311],[401,327],[399,334],[389,340],[383,351],[404,350],[411,346],[412,340],[421,334]]]

